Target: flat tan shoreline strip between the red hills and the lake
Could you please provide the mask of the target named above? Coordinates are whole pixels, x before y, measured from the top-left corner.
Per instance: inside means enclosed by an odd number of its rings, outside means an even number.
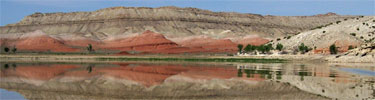
[[[215,55],[56,55],[56,54],[2,54],[1,61],[40,61],[40,62],[239,62],[239,63],[375,63],[338,61],[335,55],[252,55],[252,56],[215,56]]]

